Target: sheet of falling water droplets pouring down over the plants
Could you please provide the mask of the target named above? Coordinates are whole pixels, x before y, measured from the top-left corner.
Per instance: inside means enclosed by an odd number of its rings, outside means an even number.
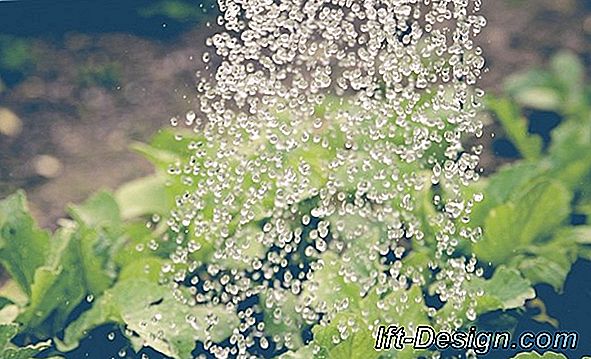
[[[479,293],[463,283],[479,273],[458,248],[480,236],[469,214],[481,195],[467,190],[480,148],[466,145],[482,131],[480,1],[220,0],[219,10],[201,56],[211,74],[172,121],[193,130],[192,155],[169,168],[178,247],[166,275],[186,305],[239,318],[224,324],[229,341],[204,350],[297,351],[306,328],[341,313],[403,313],[422,301],[417,287],[445,303],[424,306],[438,328],[472,320]],[[334,343],[397,323],[367,318],[339,322]]]

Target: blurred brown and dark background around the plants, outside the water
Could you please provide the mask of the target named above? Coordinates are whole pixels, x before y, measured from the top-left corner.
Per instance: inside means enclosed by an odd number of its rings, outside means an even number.
[[[565,50],[591,75],[591,1],[483,0],[483,13],[489,71],[481,86],[489,93],[502,96],[509,76],[547,68]],[[129,145],[192,108],[216,15],[211,0],[0,0],[0,199],[25,189],[39,223],[53,229],[67,203],[151,172]],[[563,114],[544,95],[532,108],[525,101],[522,115],[529,132],[547,139]],[[519,159],[508,132],[488,121],[485,173]],[[536,287],[550,316],[584,337],[590,270],[579,261],[561,294]],[[586,309],[573,309],[581,303]],[[553,319],[542,314],[532,311],[528,318],[538,318],[521,329],[547,329]]]

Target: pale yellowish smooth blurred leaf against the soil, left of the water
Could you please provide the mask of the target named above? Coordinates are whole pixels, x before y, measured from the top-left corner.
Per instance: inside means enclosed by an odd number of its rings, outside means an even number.
[[[173,197],[167,194],[166,178],[153,175],[125,183],[115,192],[123,219],[166,215],[172,208]]]

